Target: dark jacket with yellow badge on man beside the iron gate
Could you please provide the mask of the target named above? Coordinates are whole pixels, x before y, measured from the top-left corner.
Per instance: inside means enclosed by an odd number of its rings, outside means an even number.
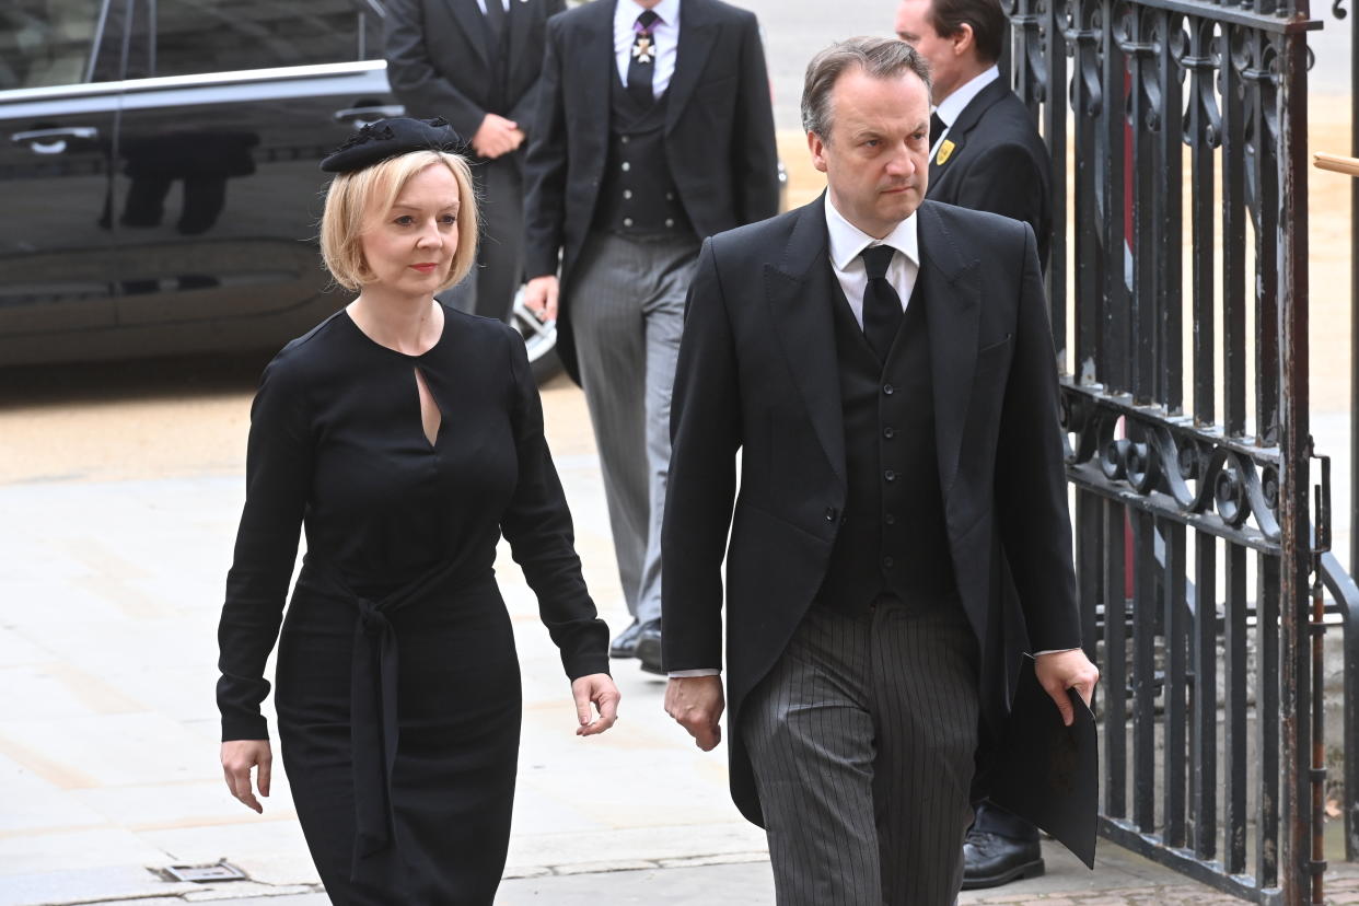
[[[1038,261],[1052,238],[1052,163],[1029,109],[1004,76],[977,92],[949,128],[947,160],[930,159],[927,198],[989,211],[1033,227]]]

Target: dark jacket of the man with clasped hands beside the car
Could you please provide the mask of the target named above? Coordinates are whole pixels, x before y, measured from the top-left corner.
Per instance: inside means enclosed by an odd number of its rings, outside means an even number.
[[[470,141],[487,115],[496,77],[477,0],[386,0],[385,5],[387,80],[406,115],[443,117]],[[511,5],[508,107],[499,113],[533,134],[544,26],[565,8],[565,0],[514,0]]]

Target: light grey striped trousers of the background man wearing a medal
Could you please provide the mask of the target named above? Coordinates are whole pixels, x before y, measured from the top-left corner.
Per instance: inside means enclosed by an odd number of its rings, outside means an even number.
[[[636,240],[595,232],[568,288],[622,598],[643,623],[660,618],[670,391],[697,262],[692,234]]]

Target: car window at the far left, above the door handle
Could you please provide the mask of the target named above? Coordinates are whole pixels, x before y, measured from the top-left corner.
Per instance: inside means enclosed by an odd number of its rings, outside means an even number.
[[[103,5],[91,0],[0,3],[0,91],[102,76],[94,72],[94,49],[106,24]]]

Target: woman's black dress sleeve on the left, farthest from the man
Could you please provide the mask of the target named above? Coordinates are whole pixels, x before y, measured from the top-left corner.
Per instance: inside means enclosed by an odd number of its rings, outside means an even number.
[[[265,662],[279,637],[311,485],[311,429],[303,390],[275,359],[250,407],[246,504],[217,625],[222,739],[268,739],[260,704]]]

